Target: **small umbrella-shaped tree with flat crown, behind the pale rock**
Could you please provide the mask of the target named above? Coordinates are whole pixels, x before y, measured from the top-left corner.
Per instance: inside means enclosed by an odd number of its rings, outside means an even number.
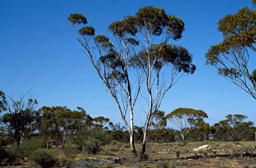
[[[185,143],[185,135],[196,124],[195,119],[205,117],[208,118],[207,114],[201,110],[179,108],[166,115],[165,118],[179,128],[183,143]]]

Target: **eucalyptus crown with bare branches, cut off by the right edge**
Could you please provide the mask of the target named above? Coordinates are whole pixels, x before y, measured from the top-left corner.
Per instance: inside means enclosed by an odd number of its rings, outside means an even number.
[[[249,59],[250,55],[254,57],[256,53],[255,24],[256,11],[248,7],[239,9],[233,15],[226,15],[218,23],[223,41],[212,45],[205,54],[206,64],[216,67],[219,75],[235,83],[254,99],[256,99],[256,69],[255,63],[252,63],[252,66],[249,64]]]

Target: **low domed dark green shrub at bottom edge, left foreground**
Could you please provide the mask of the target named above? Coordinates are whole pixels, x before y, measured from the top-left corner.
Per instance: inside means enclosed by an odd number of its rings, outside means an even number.
[[[57,159],[55,159],[53,155],[51,155],[51,153],[45,149],[37,149],[33,151],[29,159],[35,163],[38,163],[43,168],[53,167],[57,161]]]

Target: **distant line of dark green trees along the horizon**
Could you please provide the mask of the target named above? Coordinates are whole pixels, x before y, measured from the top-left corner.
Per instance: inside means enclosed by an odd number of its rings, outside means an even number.
[[[103,144],[111,141],[129,143],[129,132],[121,123],[114,125],[102,116],[93,118],[81,107],[73,111],[67,107],[41,107],[36,110],[36,99],[29,97],[25,101],[29,93],[21,95],[19,101],[12,97],[7,101],[5,94],[1,92],[0,136],[10,139],[9,144],[17,143],[19,146],[35,137],[45,141],[46,149],[51,145],[65,147],[67,141],[72,141],[82,150],[83,142],[91,138],[98,139]],[[167,115],[164,111],[157,111],[151,122],[147,141],[203,141],[204,136],[209,133],[214,135],[215,141],[255,140],[256,129],[253,122],[245,121],[246,115],[227,115],[226,119],[212,126],[203,121],[205,117],[207,114],[204,111],[188,108],[175,109]],[[168,128],[168,122],[176,125],[177,129]],[[144,128],[135,126],[134,129],[135,143],[141,143]]]

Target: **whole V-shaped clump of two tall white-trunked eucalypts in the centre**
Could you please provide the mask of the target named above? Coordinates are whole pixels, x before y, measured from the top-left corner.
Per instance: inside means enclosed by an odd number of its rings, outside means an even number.
[[[116,39],[114,45],[109,42],[109,37],[95,35],[95,29],[91,26],[78,31],[80,24],[87,23],[83,15],[71,14],[68,20],[72,23],[77,40],[85,49],[87,57],[117,103],[121,118],[129,131],[134,156],[133,108],[145,79],[149,95],[143,131],[142,152],[145,153],[147,131],[164,95],[184,73],[192,74],[195,71],[195,65],[191,63],[193,56],[189,51],[167,43],[169,39],[178,40],[182,37],[184,22],[174,15],[167,15],[164,9],[143,7],[134,16],[128,15],[109,25],[109,31]],[[95,49],[99,51],[98,55],[95,54]],[[132,87],[134,83],[137,83],[136,89]],[[134,97],[131,96],[132,93]],[[156,95],[153,96],[153,93]],[[125,118],[128,107],[130,125]]]

